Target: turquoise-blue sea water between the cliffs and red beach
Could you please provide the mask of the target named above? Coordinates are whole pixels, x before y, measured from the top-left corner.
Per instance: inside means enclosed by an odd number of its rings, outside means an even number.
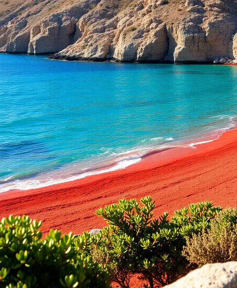
[[[0,54],[0,191],[121,169],[236,124],[237,67]],[[101,172],[101,170],[100,170]]]

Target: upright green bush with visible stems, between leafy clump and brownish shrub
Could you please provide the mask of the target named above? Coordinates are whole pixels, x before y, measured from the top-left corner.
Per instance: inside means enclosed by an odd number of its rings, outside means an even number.
[[[117,269],[115,280],[122,287],[129,287],[132,274],[147,280],[150,287],[164,286],[196,267],[188,266],[182,256],[185,239],[209,229],[210,219],[221,209],[210,202],[191,204],[175,211],[171,219],[164,213],[152,220],[155,202],[145,197],[141,203],[143,206],[137,200],[121,200],[98,209],[96,215],[108,227],[94,237],[94,244],[110,257]]]

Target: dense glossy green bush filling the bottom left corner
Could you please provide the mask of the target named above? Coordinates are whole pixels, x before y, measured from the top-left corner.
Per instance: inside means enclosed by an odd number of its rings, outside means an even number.
[[[89,253],[88,233],[61,237],[50,230],[42,240],[40,226],[27,216],[0,222],[1,287],[109,287],[107,266],[94,262]]]

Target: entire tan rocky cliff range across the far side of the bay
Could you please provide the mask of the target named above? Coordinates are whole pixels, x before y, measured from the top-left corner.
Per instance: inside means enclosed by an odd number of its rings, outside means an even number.
[[[237,0],[29,0],[0,18],[0,52],[225,63],[236,29]]]

